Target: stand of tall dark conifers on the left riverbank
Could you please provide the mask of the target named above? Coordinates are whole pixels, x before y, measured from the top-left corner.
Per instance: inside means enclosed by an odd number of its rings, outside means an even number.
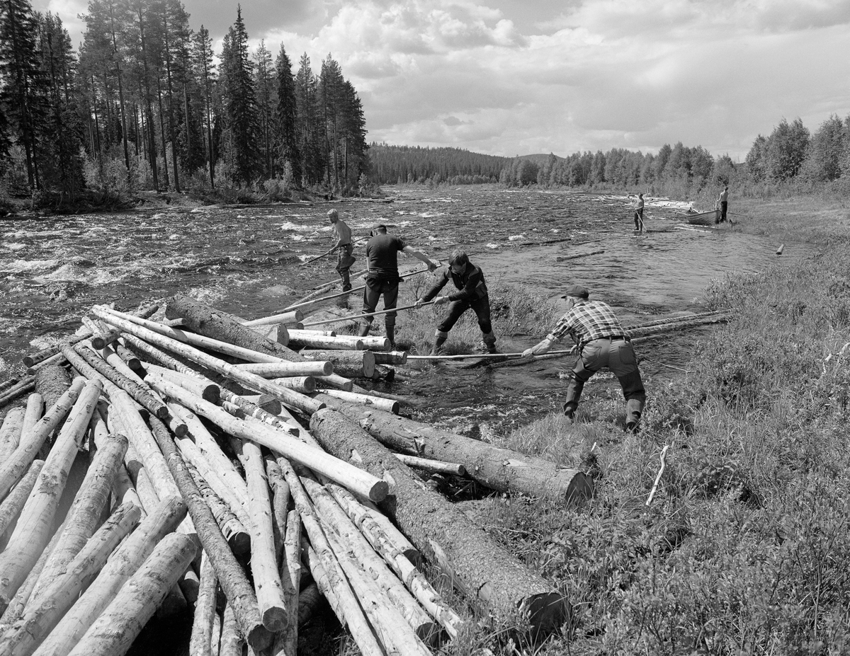
[[[281,45],[249,52],[235,23],[216,54],[179,0],[89,0],[82,46],[59,17],[0,1],[0,174],[10,193],[86,187],[317,187],[365,182],[360,98],[328,54],[293,72]]]

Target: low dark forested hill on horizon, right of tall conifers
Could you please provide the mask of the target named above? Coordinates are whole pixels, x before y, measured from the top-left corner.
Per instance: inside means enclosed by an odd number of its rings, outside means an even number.
[[[448,182],[480,184],[498,182],[501,170],[513,157],[473,153],[462,148],[429,148],[372,143],[369,180],[377,184]]]

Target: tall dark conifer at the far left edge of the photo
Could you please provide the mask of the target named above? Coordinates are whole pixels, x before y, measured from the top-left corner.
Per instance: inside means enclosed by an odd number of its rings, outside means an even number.
[[[10,132],[19,135],[32,191],[41,189],[38,170],[40,126],[48,85],[39,65],[38,24],[27,0],[0,0],[0,104]]]

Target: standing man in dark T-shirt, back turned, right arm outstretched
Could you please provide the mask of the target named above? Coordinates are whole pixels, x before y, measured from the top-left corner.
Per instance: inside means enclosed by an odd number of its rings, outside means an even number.
[[[383,308],[392,310],[399,300],[399,251],[410,253],[416,259],[428,264],[428,270],[434,271],[439,263],[432,262],[427,255],[413,250],[405,240],[387,234],[387,226],[380,224],[371,231],[371,239],[366,242],[366,286],[363,290],[363,314],[371,314],[377,307],[378,299],[383,296]],[[395,313],[384,314],[383,325],[387,329],[387,339],[395,348]],[[360,336],[369,334],[374,317],[365,317],[360,325]]]

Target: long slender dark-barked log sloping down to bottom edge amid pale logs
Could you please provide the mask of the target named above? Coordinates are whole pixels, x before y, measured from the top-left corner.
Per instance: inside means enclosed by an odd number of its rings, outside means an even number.
[[[206,404],[206,401],[201,401]],[[214,406],[213,406],[214,407]],[[272,634],[263,626],[257,606],[257,597],[254,596],[252,585],[248,582],[241,564],[236,560],[233,551],[224,539],[218,523],[212,516],[212,511],[204,502],[195,482],[192,480],[189,469],[177,451],[173,440],[161,432],[156,432],[156,443],[165,455],[168,470],[180,489],[198,538],[204,551],[215,567],[218,580],[221,582],[224,595],[234,606],[236,619],[239,622],[242,635],[246,636],[249,645],[255,650],[269,647],[272,642]],[[184,568],[185,569],[185,568]],[[182,573],[183,570],[181,570]],[[175,579],[176,580],[176,579]]]

